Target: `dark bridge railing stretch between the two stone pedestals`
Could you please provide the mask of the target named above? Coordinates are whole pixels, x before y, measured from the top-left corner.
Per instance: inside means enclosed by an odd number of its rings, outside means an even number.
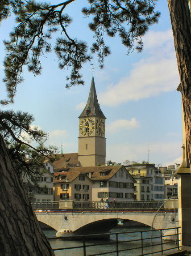
[[[164,201],[76,201],[74,209],[158,209]]]

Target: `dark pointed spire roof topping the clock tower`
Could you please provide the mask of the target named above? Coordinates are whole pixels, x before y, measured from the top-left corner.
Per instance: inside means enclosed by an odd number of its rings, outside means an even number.
[[[91,80],[91,87],[89,97],[87,99],[87,104],[84,110],[82,111],[79,117],[86,117],[86,116],[97,116],[101,118],[106,118],[103,112],[100,109],[100,105],[98,103],[97,94],[95,90],[95,82],[94,77]]]

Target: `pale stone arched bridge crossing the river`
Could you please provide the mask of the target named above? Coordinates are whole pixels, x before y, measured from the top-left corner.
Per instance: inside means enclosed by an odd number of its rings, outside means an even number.
[[[57,230],[56,235],[108,233],[117,220],[132,220],[154,229],[178,226],[178,212],[163,210],[36,210],[39,222]],[[156,215],[157,213],[157,215]],[[156,215],[156,216],[155,216]]]

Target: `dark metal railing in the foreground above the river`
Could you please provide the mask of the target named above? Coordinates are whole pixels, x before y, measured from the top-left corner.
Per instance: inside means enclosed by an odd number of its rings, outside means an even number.
[[[66,236],[59,236],[59,237],[50,237],[47,238],[49,240],[52,239],[78,239],[78,241],[81,240],[82,245],[81,246],[74,246],[74,247],[60,247],[60,248],[53,248],[53,251],[58,250],[72,250],[81,248],[83,256],[97,256],[97,255],[106,255],[106,254],[112,254],[112,256],[116,255],[119,256],[119,252],[129,252],[129,254],[125,255],[132,255],[133,252],[136,252],[137,256],[144,256],[144,255],[150,255],[154,253],[159,252],[165,252],[168,250],[179,250],[179,242],[181,241],[179,239],[179,228],[166,228],[166,229],[158,229],[158,230],[143,230],[143,231],[129,231],[129,232],[118,232],[118,233],[105,233],[105,234],[96,234],[96,235],[78,235],[78,236],[72,236],[72,237],[66,237]],[[165,231],[167,230],[173,230],[174,234],[165,235]],[[156,235],[154,235],[154,232]],[[132,239],[133,233],[139,233],[140,238],[139,239]],[[163,234],[164,233],[164,234]],[[125,240],[120,240],[120,235],[125,234]],[[114,241],[110,240],[109,242],[103,242],[103,243],[91,243],[87,244],[88,239],[92,239],[93,237],[100,237],[102,239],[104,236],[110,236],[114,237]],[[172,239],[173,237],[173,239]],[[170,239],[171,241],[164,241],[163,239]],[[173,240],[173,246],[172,246],[172,240]],[[104,240],[103,240],[104,241]],[[123,243],[123,247],[121,247],[121,244]],[[135,246],[135,243],[137,244]],[[110,245],[109,251],[104,252],[100,250],[101,245]],[[125,248],[125,246],[127,246]],[[94,254],[87,254],[89,247],[96,247],[93,249]],[[137,251],[135,251],[137,250]],[[97,251],[97,252],[96,252]],[[71,251],[70,251],[71,252]],[[115,254],[114,254],[115,253]]]

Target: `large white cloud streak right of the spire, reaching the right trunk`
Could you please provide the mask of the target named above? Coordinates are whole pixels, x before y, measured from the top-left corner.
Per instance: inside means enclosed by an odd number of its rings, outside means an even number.
[[[99,94],[103,105],[116,106],[130,100],[140,100],[176,90],[179,73],[170,30],[145,36],[147,57],[133,65],[129,77],[109,85]]]

